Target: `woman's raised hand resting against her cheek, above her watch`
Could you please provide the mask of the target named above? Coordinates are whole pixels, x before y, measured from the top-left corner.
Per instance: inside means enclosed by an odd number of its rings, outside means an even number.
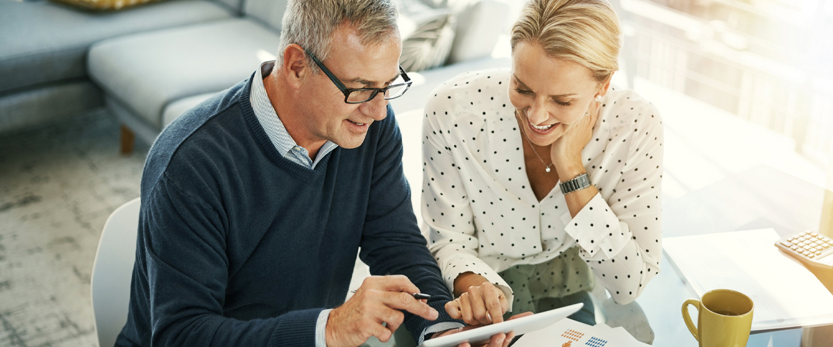
[[[550,156],[561,181],[571,180],[584,172],[581,150],[587,146],[593,136],[593,126],[599,118],[600,108],[601,103],[591,102],[586,111],[588,115],[582,116],[579,121],[573,123],[564,135],[552,143]]]

